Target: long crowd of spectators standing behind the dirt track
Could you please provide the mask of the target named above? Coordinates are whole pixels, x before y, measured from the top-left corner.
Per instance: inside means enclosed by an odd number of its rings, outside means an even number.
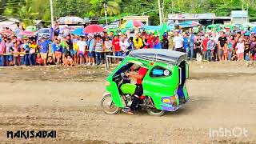
[[[173,30],[161,38],[145,30],[133,37],[113,31],[85,36],[54,32],[52,38],[40,39],[0,34],[0,66],[94,66],[106,62],[106,55],[123,57],[137,49],[177,50],[197,61],[253,61],[256,34],[238,30],[195,34],[192,29]],[[110,64],[119,61],[118,58],[107,60]]]

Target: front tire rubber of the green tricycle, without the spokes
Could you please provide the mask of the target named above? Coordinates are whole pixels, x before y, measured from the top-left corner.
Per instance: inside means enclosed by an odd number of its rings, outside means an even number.
[[[106,99],[110,98],[110,104],[108,104],[108,106],[110,108],[112,108],[113,110],[107,110],[106,107],[104,106],[104,102],[106,101]],[[106,114],[117,114],[119,110],[121,110],[119,107],[114,106],[114,102],[112,101],[112,97],[111,94],[106,94],[101,101],[101,108],[104,111],[104,113]]]

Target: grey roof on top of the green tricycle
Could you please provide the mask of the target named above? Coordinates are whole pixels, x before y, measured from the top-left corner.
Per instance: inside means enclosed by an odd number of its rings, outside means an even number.
[[[173,65],[178,65],[180,62],[187,59],[186,53],[166,49],[132,50],[130,51],[129,56],[147,61],[170,63]]]

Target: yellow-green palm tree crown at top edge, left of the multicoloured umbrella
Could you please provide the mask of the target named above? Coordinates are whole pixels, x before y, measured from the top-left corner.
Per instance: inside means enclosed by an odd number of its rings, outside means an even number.
[[[101,14],[106,13],[110,16],[117,15],[121,13],[121,7],[119,4],[122,2],[122,0],[102,0],[102,10]]]

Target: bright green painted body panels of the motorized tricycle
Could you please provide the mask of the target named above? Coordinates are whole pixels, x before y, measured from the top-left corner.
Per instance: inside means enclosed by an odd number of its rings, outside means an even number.
[[[138,59],[138,58],[131,58],[126,57],[123,62],[115,69],[113,70],[112,74],[110,74],[106,81],[110,82],[110,86],[106,86],[106,90],[109,91],[112,94],[113,102],[118,107],[124,107],[124,104],[122,103],[122,98],[120,97],[120,94],[118,92],[118,86],[115,82],[113,82],[112,77],[113,75],[122,68],[122,66],[126,65],[127,63],[137,63],[142,67],[146,67],[148,69],[147,74],[143,78],[142,86],[144,90],[144,95],[150,96],[150,98],[153,99],[154,105],[158,110],[162,110],[162,97],[173,97],[175,96],[175,92],[178,88],[179,84],[179,72],[178,72],[178,66],[173,66],[167,63],[163,62],[153,62],[154,64],[151,66],[150,61]],[[155,66],[160,66],[166,70],[170,70],[171,74],[166,77],[161,78],[154,78],[150,76],[150,71],[153,70]],[[188,66],[186,66],[188,67]],[[188,70],[188,69],[186,69]],[[188,77],[188,71],[186,71],[186,74]],[[121,86],[121,90],[125,94],[134,94],[134,90],[136,88],[136,85],[134,84],[123,84]],[[188,98],[188,94],[186,91],[186,87],[183,88],[185,98]],[[179,100],[176,99],[177,104],[179,105]]]

